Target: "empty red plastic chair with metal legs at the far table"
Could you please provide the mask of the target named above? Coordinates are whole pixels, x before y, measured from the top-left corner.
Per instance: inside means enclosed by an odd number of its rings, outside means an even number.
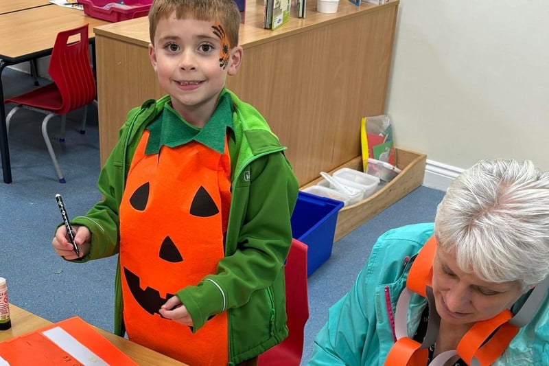
[[[76,36],[80,39],[74,41]],[[66,114],[84,107],[80,133],[85,133],[87,106],[91,102],[95,102],[95,79],[90,65],[87,24],[59,32],[51,52],[48,72],[54,80],[51,84],[4,101],[6,104],[18,104],[8,113],[5,123],[9,131],[10,121],[20,108],[45,113],[46,117],[42,121],[42,135],[51,161],[54,163],[59,182],[65,183],[54,149],[49,141],[47,123],[51,117],[61,116],[59,141],[63,142],[65,141]]]

